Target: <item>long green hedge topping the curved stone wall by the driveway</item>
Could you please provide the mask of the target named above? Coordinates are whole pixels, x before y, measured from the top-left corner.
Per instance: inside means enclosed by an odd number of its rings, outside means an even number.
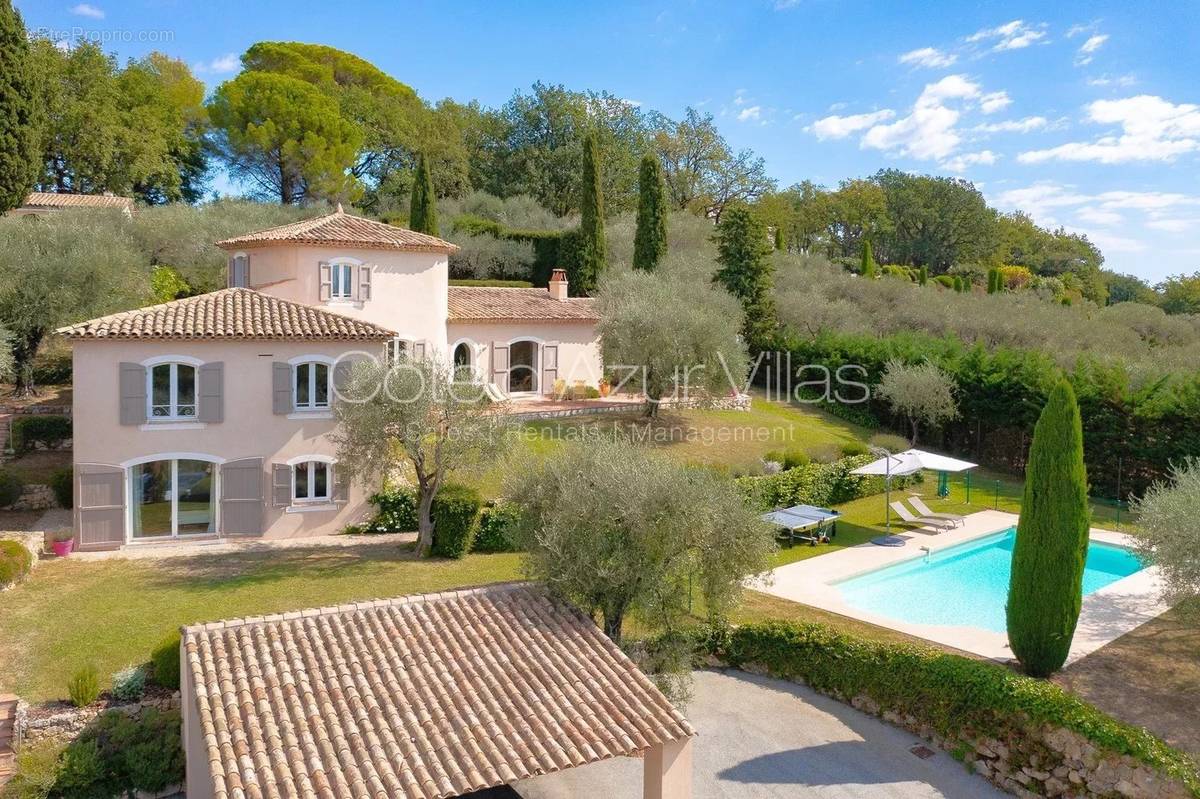
[[[952,740],[1027,738],[1063,727],[1097,749],[1128,755],[1200,797],[1195,763],[1151,733],[1102,713],[1054,683],[937,649],[854,638],[821,624],[769,621],[703,629],[697,653],[756,665],[842,701],[869,697],[881,713],[912,716]]]

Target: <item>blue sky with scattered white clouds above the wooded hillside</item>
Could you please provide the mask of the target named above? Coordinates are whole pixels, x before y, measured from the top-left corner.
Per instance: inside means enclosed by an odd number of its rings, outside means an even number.
[[[534,82],[712,113],[788,186],[958,175],[1086,233],[1105,265],[1200,270],[1200,2],[17,0],[30,30],[158,49],[209,86],[263,40],[330,44],[436,102]],[[223,181],[222,181],[223,184]]]

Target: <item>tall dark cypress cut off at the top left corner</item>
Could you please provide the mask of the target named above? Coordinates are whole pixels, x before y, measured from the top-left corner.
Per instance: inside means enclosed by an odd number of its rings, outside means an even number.
[[[0,214],[24,203],[37,180],[32,80],[25,25],[11,0],[0,0]]]

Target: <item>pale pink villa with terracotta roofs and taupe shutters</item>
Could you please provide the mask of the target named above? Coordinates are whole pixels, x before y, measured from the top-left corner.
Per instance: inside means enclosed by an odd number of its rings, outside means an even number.
[[[397,353],[497,395],[601,376],[593,302],[449,283],[455,245],[338,209],[217,242],[228,288],[91,319],[73,344],[76,547],[336,533],[366,493],[338,473],[335,365]]]

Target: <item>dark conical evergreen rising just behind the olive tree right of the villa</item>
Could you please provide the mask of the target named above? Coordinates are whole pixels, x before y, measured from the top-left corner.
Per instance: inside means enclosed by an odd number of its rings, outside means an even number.
[[[775,332],[774,264],[767,226],[745,205],[728,205],[716,226],[716,260],[713,281],[742,300],[742,331],[754,353],[770,347]]]

